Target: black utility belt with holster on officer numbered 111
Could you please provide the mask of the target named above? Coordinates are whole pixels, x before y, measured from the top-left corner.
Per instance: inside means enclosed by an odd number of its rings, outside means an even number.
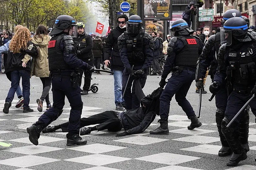
[[[52,79],[53,77],[60,77],[63,79],[70,79],[73,88],[77,88],[78,81],[80,78],[79,72],[72,72],[71,74],[61,74],[61,72],[50,72],[49,78]]]

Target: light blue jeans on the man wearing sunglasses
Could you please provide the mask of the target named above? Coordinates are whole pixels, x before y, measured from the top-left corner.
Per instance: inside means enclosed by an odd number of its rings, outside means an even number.
[[[114,94],[115,94],[115,104],[123,103],[122,98],[122,70],[113,70],[114,72]]]

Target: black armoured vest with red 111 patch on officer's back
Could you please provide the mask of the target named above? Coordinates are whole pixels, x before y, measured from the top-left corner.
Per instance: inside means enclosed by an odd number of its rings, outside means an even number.
[[[64,36],[65,34],[54,36],[49,41],[48,59],[50,71],[72,69],[72,67],[64,61],[63,51],[60,48],[60,42]]]

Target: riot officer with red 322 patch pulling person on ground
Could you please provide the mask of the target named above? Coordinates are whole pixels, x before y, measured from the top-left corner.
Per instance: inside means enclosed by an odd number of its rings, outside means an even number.
[[[150,134],[169,134],[168,116],[170,101],[174,94],[179,106],[182,107],[188,119],[191,120],[188,129],[192,130],[202,125],[186,96],[191,83],[195,79],[196,61],[204,44],[197,36],[192,36],[194,31],[188,27],[188,23],[183,19],[174,21],[170,31],[172,38],[167,49],[168,57],[159,83],[160,87],[166,85],[168,74],[171,71],[173,73],[160,97],[160,127],[150,131]]]

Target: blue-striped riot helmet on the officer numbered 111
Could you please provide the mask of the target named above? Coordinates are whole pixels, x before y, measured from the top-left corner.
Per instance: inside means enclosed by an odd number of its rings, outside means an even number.
[[[56,18],[55,20],[55,27],[53,28],[53,30],[51,31],[51,36],[59,34],[61,32],[63,32],[65,29],[67,28],[74,28],[74,32],[72,36],[75,37],[75,34],[77,35],[77,24],[75,19],[72,16],[69,15],[60,15]]]

